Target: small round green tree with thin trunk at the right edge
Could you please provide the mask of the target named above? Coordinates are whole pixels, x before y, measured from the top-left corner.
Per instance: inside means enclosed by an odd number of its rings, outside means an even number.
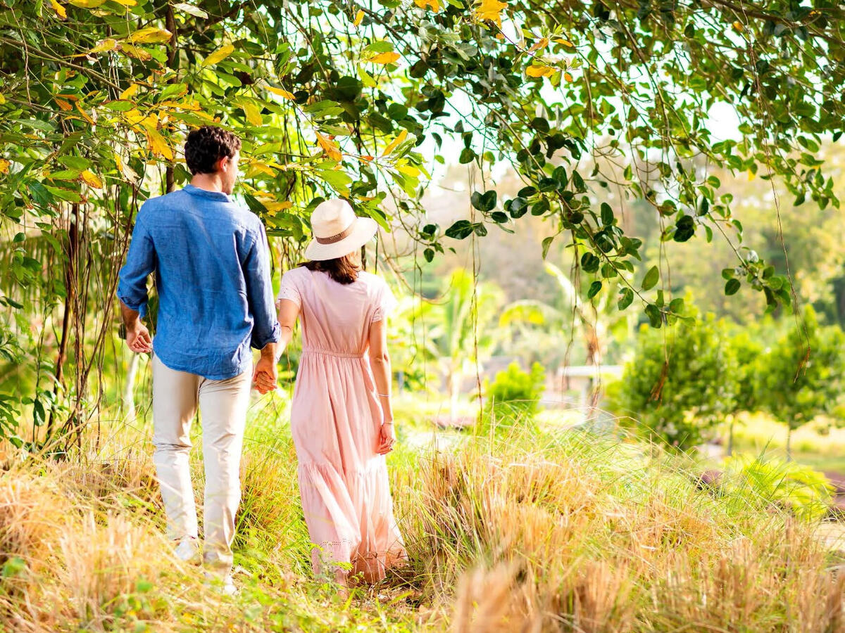
[[[815,311],[807,306],[802,324],[760,359],[760,404],[787,425],[788,459],[793,430],[831,412],[842,398],[843,344],[842,330],[820,327]]]

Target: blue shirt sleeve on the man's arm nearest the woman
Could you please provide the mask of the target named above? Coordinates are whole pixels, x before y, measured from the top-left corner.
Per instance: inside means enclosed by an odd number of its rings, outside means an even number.
[[[251,344],[262,349],[268,343],[277,343],[281,328],[273,305],[273,284],[270,281],[270,252],[264,225],[257,222],[255,241],[243,262],[243,276],[247,282],[249,311],[253,315]]]

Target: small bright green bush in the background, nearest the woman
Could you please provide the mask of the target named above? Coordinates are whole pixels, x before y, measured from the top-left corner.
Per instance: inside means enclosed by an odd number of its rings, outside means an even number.
[[[490,425],[507,429],[515,424],[532,424],[540,408],[540,397],[546,381],[546,371],[539,363],[531,371],[523,370],[519,363],[511,363],[496,374],[495,380],[485,385],[486,403],[479,430]]]

